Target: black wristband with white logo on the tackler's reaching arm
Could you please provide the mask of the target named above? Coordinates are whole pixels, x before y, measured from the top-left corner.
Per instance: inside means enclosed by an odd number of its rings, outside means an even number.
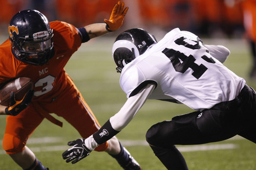
[[[115,136],[119,131],[113,129],[110,120],[106,122],[97,132],[93,134],[94,140],[98,144],[102,144]]]

